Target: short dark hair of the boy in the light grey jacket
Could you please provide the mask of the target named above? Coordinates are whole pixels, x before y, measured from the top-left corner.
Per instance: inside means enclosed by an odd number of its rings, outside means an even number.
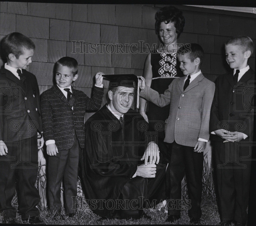
[[[199,67],[204,59],[204,50],[197,43],[187,43],[178,49],[178,54],[189,54],[190,61],[193,62],[197,57],[200,59]]]

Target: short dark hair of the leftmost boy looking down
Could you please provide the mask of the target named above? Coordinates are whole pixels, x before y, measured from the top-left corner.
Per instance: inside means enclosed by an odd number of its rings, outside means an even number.
[[[7,59],[10,53],[18,59],[23,54],[23,50],[35,48],[34,42],[19,32],[9,33],[1,40],[1,56]]]

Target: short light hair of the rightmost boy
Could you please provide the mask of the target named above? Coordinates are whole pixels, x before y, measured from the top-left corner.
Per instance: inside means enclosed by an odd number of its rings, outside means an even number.
[[[253,41],[248,36],[233,37],[225,42],[226,45],[239,45],[243,52],[250,50],[253,53]]]

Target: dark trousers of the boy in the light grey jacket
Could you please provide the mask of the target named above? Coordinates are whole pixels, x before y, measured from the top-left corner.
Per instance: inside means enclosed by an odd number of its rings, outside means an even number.
[[[172,154],[166,170],[167,186],[170,187],[169,200],[167,201],[168,215],[179,215],[178,200],[182,199],[181,182],[186,172],[188,196],[191,208],[189,217],[201,217],[202,172],[204,153],[194,152],[194,147],[177,144],[170,145]]]

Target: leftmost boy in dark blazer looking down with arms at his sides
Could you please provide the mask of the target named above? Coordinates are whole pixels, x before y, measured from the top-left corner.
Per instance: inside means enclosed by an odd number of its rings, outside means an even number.
[[[0,212],[7,223],[15,223],[17,211],[11,201],[16,180],[22,220],[43,223],[38,218],[40,198],[35,187],[37,150],[44,144],[43,138],[37,139],[42,135],[39,88],[35,75],[24,69],[32,62],[34,50],[35,44],[18,32],[1,41],[7,63],[0,75]]]

